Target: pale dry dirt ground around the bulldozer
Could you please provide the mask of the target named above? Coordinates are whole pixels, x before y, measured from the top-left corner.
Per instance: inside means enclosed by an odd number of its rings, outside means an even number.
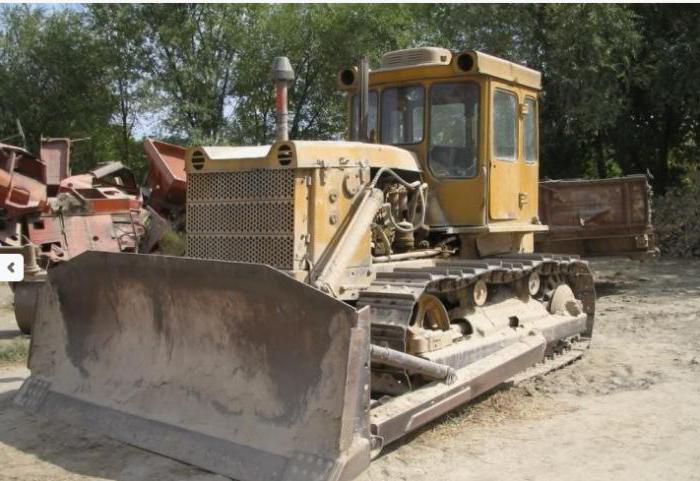
[[[700,262],[593,268],[583,360],[433,423],[359,479],[700,480]],[[13,337],[11,311],[0,314],[0,340]],[[224,479],[16,409],[26,375],[0,367],[0,480]]]

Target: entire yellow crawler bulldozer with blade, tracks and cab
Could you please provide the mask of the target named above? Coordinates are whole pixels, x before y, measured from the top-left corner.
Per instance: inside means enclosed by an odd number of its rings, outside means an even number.
[[[540,73],[417,48],[339,73],[348,141],[187,153],[187,256],[49,272],[16,402],[242,481],[349,480],[388,444],[577,359],[595,292],[533,253]]]

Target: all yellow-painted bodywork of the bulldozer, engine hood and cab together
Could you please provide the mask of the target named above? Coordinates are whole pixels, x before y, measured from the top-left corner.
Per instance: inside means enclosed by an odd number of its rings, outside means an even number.
[[[471,55],[471,54],[470,54]],[[425,88],[423,140],[415,145],[389,146],[360,142],[283,141],[257,147],[196,147],[188,151],[186,169],[196,172],[275,170],[277,179],[294,182],[295,278],[313,281],[315,267],[324,265],[351,218],[359,193],[379,168],[420,173],[429,185],[427,224],[436,231],[459,234],[462,255],[501,251],[531,251],[532,232],[545,229],[533,223],[537,215],[538,163],[524,161],[524,118],[518,115],[517,158],[494,158],[492,125],[493,93],[512,91],[518,105],[526,96],[537,98],[540,75],[530,69],[483,54],[475,55],[475,67],[460,71],[452,63],[420,65],[372,72],[370,88],[421,84]],[[480,88],[479,149],[476,176],[440,178],[427,165],[430,134],[430,89],[441,82],[474,82]],[[520,113],[520,111],[519,111]],[[381,117],[381,115],[380,115]],[[379,119],[381,125],[381,118]],[[229,176],[236,177],[236,176]],[[284,181],[286,182],[286,180]],[[256,206],[268,199],[236,202]],[[224,219],[225,220],[225,219]],[[342,299],[354,299],[373,278],[371,233],[353,246],[352,261],[343,272]],[[309,279],[311,277],[311,279]]]

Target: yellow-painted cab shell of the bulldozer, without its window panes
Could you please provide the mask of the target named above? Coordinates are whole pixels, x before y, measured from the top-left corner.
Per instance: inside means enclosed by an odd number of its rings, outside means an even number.
[[[518,115],[518,145],[515,161],[503,161],[493,153],[494,129],[492,125],[493,93],[501,88],[517,96],[520,105],[526,96],[538,97],[541,74],[532,69],[503,59],[470,52],[476,59],[470,72],[455,66],[456,56],[448,65],[419,65],[370,72],[370,89],[378,91],[379,98],[386,88],[404,85],[425,87],[424,139],[419,144],[400,147],[416,154],[429,184],[430,208],[427,223],[433,227],[494,226],[495,231],[509,229],[540,230],[534,225],[537,216],[537,183],[539,162],[528,164],[524,160],[524,117]],[[430,132],[430,88],[439,82],[476,82],[480,85],[480,146],[477,176],[470,179],[436,178],[428,168],[428,135]],[[380,100],[381,102],[381,100]],[[350,102],[348,102],[350,108]],[[381,107],[378,124],[381,125]],[[348,115],[350,118],[350,115]],[[378,142],[381,139],[377,139]],[[496,228],[503,225],[505,228]]]

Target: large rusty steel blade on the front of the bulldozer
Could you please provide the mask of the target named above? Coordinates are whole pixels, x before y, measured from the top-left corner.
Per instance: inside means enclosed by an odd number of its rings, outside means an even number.
[[[16,403],[238,480],[351,479],[367,312],[265,265],[85,252],[42,287]]]

